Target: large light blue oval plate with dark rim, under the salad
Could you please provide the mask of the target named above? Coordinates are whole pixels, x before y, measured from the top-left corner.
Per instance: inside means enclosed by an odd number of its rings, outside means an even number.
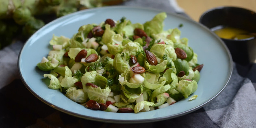
[[[166,108],[137,114],[93,111],[69,100],[59,90],[49,89],[43,82],[42,75],[46,72],[36,68],[42,57],[48,55],[49,41],[53,34],[71,38],[84,24],[99,24],[107,18],[119,20],[123,16],[132,23],[143,24],[160,12],[141,7],[102,7],[79,11],[54,20],[38,30],[24,45],[18,60],[20,76],[29,91],[44,103],[85,119],[142,123],[170,119],[195,111],[213,100],[226,87],[232,73],[232,59],[224,43],[208,28],[173,13],[167,13],[164,29],[176,28],[183,24],[180,28],[181,37],[189,39],[189,46],[198,54],[198,63],[204,64],[197,91],[194,93],[198,95],[196,100],[189,101],[187,98]]]

